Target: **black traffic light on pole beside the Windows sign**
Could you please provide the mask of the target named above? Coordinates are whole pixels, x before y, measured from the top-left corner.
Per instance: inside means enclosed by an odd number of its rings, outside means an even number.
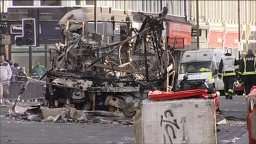
[[[15,36],[15,44],[36,46],[36,24],[34,18],[22,19],[22,36]]]

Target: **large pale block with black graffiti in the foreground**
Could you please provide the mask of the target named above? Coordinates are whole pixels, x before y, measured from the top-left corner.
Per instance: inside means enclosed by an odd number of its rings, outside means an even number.
[[[143,143],[216,143],[214,100],[143,100]]]

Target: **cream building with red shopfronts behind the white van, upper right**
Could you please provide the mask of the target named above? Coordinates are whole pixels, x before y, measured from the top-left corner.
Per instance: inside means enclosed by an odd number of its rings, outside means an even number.
[[[186,1],[186,9],[187,20],[195,25],[196,1]],[[200,47],[256,51],[256,1],[198,1],[198,12]],[[192,41],[196,44],[195,36]]]

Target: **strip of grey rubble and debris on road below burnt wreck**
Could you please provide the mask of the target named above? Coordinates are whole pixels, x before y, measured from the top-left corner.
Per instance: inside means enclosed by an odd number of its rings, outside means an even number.
[[[122,113],[77,110],[70,106],[64,108],[47,108],[40,105],[26,108],[16,106],[14,111],[9,109],[7,116],[19,121],[133,125],[132,119],[124,119]]]

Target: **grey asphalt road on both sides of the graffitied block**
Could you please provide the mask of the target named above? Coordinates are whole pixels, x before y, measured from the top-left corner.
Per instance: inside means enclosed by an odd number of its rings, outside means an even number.
[[[227,124],[217,127],[218,143],[234,143],[247,131],[245,98],[221,97],[220,108]],[[4,116],[7,110],[0,108],[0,143],[134,143],[131,125],[17,121]]]

